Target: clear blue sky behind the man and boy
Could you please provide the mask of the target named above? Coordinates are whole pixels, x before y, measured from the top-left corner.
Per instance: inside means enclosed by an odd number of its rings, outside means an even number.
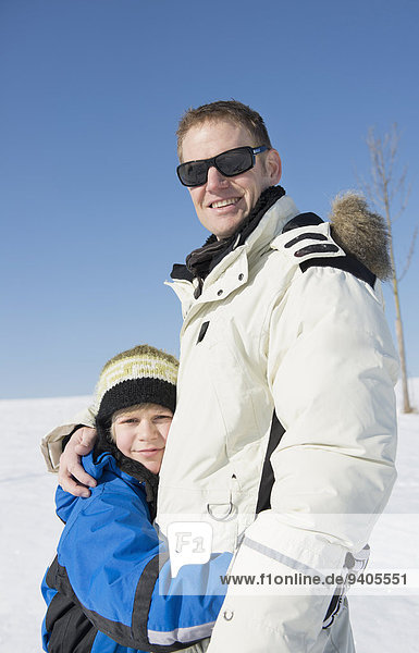
[[[188,107],[239,99],[266,119],[301,211],[369,169],[368,127],[402,133],[418,223],[416,0],[0,0],[0,397],[88,394],[148,342],[178,353],[163,285],[206,232],[175,176]],[[418,246],[419,249],[419,246]],[[419,251],[402,283],[419,375]],[[393,328],[393,299],[385,291]]]

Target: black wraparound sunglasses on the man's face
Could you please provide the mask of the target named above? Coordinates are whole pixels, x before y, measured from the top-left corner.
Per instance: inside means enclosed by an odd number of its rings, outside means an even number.
[[[213,165],[224,176],[235,176],[247,172],[255,165],[256,155],[264,152],[268,148],[264,145],[259,147],[236,147],[226,152],[221,152],[211,159],[200,159],[199,161],[186,161],[177,165],[177,176],[184,186],[202,186],[207,183],[208,171]]]

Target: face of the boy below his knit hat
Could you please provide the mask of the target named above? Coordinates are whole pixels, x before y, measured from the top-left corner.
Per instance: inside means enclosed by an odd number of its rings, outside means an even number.
[[[112,432],[118,448],[159,473],[172,418],[170,408],[158,404],[133,406],[115,412]]]

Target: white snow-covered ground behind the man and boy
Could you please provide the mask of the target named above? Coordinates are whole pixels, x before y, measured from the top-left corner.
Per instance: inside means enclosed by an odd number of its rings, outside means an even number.
[[[419,404],[419,379],[412,382]],[[61,525],[53,510],[54,475],[46,472],[40,438],[89,397],[0,402],[0,651],[40,653],[44,601],[39,583]],[[398,480],[371,539],[370,569],[419,568],[419,415],[399,416]],[[357,653],[419,650],[419,588],[414,593],[353,595]]]

